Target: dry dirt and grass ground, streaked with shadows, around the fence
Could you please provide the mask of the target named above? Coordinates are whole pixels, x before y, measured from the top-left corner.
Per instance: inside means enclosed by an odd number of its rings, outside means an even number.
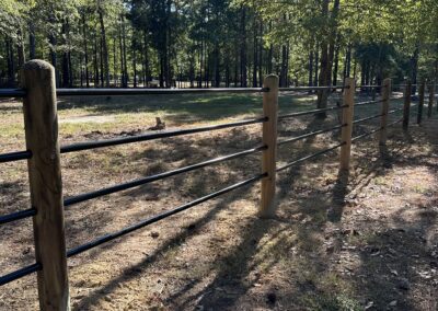
[[[171,128],[260,115],[260,97],[249,100],[252,106],[241,110],[232,103],[204,112],[192,102],[170,111],[164,103],[127,108],[67,100],[59,111],[61,142],[146,131],[157,111]],[[310,108],[289,97],[280,106],[281,112]],[[358,107],[356,117],[378,111]],[[22,149],[20,104],[0,105],[0,152]],[[357,126],[355,135],[378,122]],[[279,139],[337,123],[336,114],[289,119],[281,123]],[[65,196],[245,150],[261,142],[260,133],[254,125],[66,154]],[[274,219],[256,216],[257,183],[70,258],[72,309],[438,310],[437,133],[436,114],[408,131],[400,124],[391,128],[387,148],[373,136],[358,141],[349,177],[338,174],[337,151],[285,171],[278,175]],[[335,131],[283,146],[278,164],[338,140]],[[2,164],[1,214],[28,206],[25,170],[25,163]],[[71,206],[68,247],[260,171],[254,154]],[[0,234],[0,274],[33,263],[30,220],[2,226]],[[34,275],[0,288],[0,310],[36,309]]]

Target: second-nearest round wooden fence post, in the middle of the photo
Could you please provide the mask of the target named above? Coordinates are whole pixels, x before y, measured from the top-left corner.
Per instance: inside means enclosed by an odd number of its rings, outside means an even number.
[[[275,180],[277,160],[277,117],[278,117],[278,77],[270,74],[265,78],[263,93],[263,113],[267,122],[263,124],[263,145],[267,146],[262,154],[262,172],[267,176],[262,180],[262,201],[260,217],[269,218],[275,212]]]

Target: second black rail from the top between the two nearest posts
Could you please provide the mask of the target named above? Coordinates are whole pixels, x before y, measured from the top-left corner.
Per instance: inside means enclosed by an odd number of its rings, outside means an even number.
[[[267,122],[267,117],[246,119],[246,120],[240,120],[240,122],[233,122],[233,123],[226,123],[226,124],[219,124],[219,125],[209,125],[209,126],[195,127],[195,128],[148,133],[148,134],[143,134],[143,135],[122,137],[122,138],[112,138],[112,139],[96,140],[96,141],[84,141],[84,142],[72,143],[69,146],[62,146],[60,148],[60,152],[69,153],[69,152],[76,152],[76,151],[82,151],[82,150],[103,148],[103,147],[111,147],[111,146],[125,145],[125,143],[139,142],[139,141],[148,141],[148,140],[154,140],[154,139],[160,139],[160,138],[176,137],[176,136],[182,136],[182,135],[189,135],[189,134],[196,134],[196,133],[203,133],[203,131],[211,131],[211,130],[218,130],[218,129],[224,129],[224,128],[231,128],[231,127],[239,127],[239,126],[258,124],[258,123],[264,123],[264,122]]]

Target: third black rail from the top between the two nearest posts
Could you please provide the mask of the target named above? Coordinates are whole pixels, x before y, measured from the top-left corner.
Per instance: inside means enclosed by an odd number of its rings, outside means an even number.
[[[148,184],[148,183],[152,183],[152,182],[157,182],[157,181],[160,181],[160,180],[164,180],[164,178],[168,178],[168,177],[171,177],[171,176],[174,176],[174,175],[178,175],[178,174],[182,174],[182,173],[191,172],[191,171],[194,171],[194,170],[197,170],[197,169],[206,168],[206,166],[209,166],[209,165],[212,165],[212,164],[216,164],[216,163],[220,163],[220,162],[223,162],[223,161],[238,159],[238,158],[241,158],[241,157],[244,157],[244,156],[249,156],[249,154],[252,154],[252,153],[261,151],[261,150],[265,150],[266,148],[267,148],[266,146],[261,146],[261,147],[256,147],[256,148],[249,149],[249,150],[245,150],[245,151],[237,152],[237,153],[233,153],[233,154],[219,157],[219,158],[216,158],[216,159],[212,159],[212,160],[208,160],[208,161],[205,161],[205,162],[200,162],[200,163],[197,163],[197,164],[180,168],[180,169],[176,169],[176,170],[173,170],[173,171],[169,171],[169,172],[165,172],[165,173],[160,173],[160,174],[147,176],[147,177],[143,177],[143,178],[135,180],[135,181],[131,181],[131,182],[127,182],[127,183],[124,183],[124,184],[111,186],[111,187],[99,189],[99,191],[95,191],[95,192],[90,192],[90,193],[85,193],[85,194],[82,194],[82,195],[73,196],[73,197],[65,199],[64,200],[64,206],[67,207],[67,206],[70,206],[70,205],[73,205],[73,204],[78,204],[78,203],[81,203],[81,201],[90,200],[90,199],[97,198],[97,197],[101,197],[101,196],[114,194],[114,193],[117,193],[117,192],[122,192],[122,191],[126,191],[126,189],[129,189],[129,188],[138,187],[138,186],[141,186],[141,185]]]

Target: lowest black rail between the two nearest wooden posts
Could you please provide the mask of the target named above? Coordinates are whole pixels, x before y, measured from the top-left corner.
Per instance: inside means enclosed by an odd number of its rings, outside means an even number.
[[[226,187],[226,188],[222,188],[222,189],[220,189],[220,191],[218,191],[218,192],[215,192],[215,193],[212,193],[212,194],[203,196],[203,197],[200,197],[200,198],[197,198],[197,199],[195,199],[195,200],[192,200],[192,201],[189,201],[189,203],[186,203],[186,204],[184,204],[184,205],[181,205],[181,206],[178,206],[178,207],[176,207],[176,208],[174,208],[174,209],[171,209],[171,210],[169,210],[169,211],[164,211],[164,212],[161,212],[161,214],[159,214],[159,215],[157,215],[157,216],[153,216],[153,217],[151,217],[151,218],[145,219],[145,220],[142,220],[142,221],[140,221],[140,222],[137,222],[137,223],[135,223],[135,224],[132,224],[132,226],[129,226],[129,227],[127,227],[127,228],[125,228],[125,229],[122,229],[120,231],[113,232],[113,233],[103,235],[103,237],[101,237],[101,238],[97,238],[97,239],[94,240],[94,241],[91,241],[91,242],[89,242],[89,243],[85,243],[85,244],[82,244],[82,245],[79,245],[79,246],[77,246],[77,247],[73,247],[73,249],[69,250],[69,251],[67,252],[67,257],[72,257],[72,256],[76,256],[76,255],[78,255],[78,254],[81,254],[81,253],[83,253],[83,252],[85,252],[85,251],[88,251],[88,250],[94,249],[94,247],[96,247],[96,246],[99,246],[99,245],[101,245],[101,244],[103,244],[103,243],[110,242],[110,241],[112,241],[112,240],[114,240],[114,239],[120,238],[120,237],[123,237],[123,235],[125,235],[125,234],[128,234],[128,233],[130,233],[130,232],[132,232],[132,231],[136,231],[136,230],[138,230],[138,229],[141,229],[141,228],[143,228],[143,227],[146,227],[146,226],[152,224],[152,223],[158,222],[158,221],[160,221],[160,220],[162,220],[162,219],[165,219],[165,218],[168,218],[168,217],[170,217],[170,216],[173,216],[173,215],[175,215],[175,214],[182,212],[182,211],[184,211],[184,210],[186,210],[186,209],[188,209],[188,208],[191,208],[191,207],[194,207],[194,206],[196,206],[196,205],[199,205],[199,204],[201,204],[201,203],[205,203],[205,201],[207,201],[207,200],[210,200],[210,199],[212,199],[212,198],[215,198],[215,197],[218,197],[218,196],[220,196],[220,195],[223,195],[223,194],[226,194],[226,193],[229,193],[229,192],[231,192],[231,191],[233,191],[233,189],[243,187],[243,186],[245,186],[245,185],[253,184],[253,183],[255,183],[255,182],[257,182],[257,181],[260,181],[260,180],[262,180],[262,178],[264,178],[264,177],[266,177],[266,176],[267,176],[267,173],[256,175],[256,176],[254,176],[254,177],[252,177],[252,178],[249,178],[249,180],[245,180],[245,181],[243,181],[243,182],[233,184],[233,185],[231,185],[231,186],[228,186],[228,187]]]

